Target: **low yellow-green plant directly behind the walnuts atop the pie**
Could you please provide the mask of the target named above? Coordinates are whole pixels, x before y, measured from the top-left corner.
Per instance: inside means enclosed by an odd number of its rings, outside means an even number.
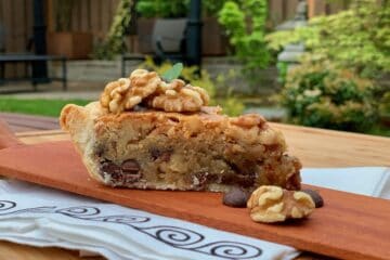
[[[165,62],[161,65],[156,65],[152,57],[146,57],[146,61],[140,67],[162,75],[172,67],[172,64],[170,62]],[[218,75],[217,79],[213,80],[206,69],[202,69],[200,73],[198,70],[198,67],[196,66],[184,66],[180,78],[190,82],[192,86],[204,88],[210,95],[210,105],[221,106],[224,114],[230,116],[240,115],[245,108],[244,104],[231,93],[231,88],[226,86],[226,79],[229,79],[230,76],[233,76],[232,73],[226,74],[225,76]],[[217,93],[217,89],[222,86],[223,89],[226,90],[225,93]]]

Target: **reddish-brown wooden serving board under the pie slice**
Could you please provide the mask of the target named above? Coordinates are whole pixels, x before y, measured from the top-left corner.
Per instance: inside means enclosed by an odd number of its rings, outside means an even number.
[[[252,222],[247,209],[223,206],[219,193],[103,186],[89,178],[68,141],[9,146],[0,150],[0,173],[5,177],[325,256],[389,259],[390,203],[385,199],[314,187],[325,199],[323,208],[304,221],[269,225]]]

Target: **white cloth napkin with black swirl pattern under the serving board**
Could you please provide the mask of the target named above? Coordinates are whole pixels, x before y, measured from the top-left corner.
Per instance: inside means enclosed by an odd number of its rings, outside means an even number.
[[[0,172],[1,173],[1,172]],[[303,169],[304,183],[390,198],[390,169]],[[287,246],[16,180],[0,180],[0,239],[108,259],[294,259]]]

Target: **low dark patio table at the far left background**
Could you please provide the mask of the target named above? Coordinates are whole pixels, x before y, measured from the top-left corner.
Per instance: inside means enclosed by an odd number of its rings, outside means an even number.
[[[66,61],[65,56],[57,55],[37,55],[30,53],[10,53],[10,54],[1,54],[0,55],[0,83],[5,81],[20,81],[20,80],[31,80],[34,90],[37,90],[37,83],[40,78],[35,78],[32,74],[27,77],[14,77],[14,78],[4,78],[5,75],[5,64],[6,63],[24,63],[29,65],[31,68],[34,67],[36,62],[49,62],[49,61],[58,61],[62,64],[62,77],[48,77],[49,80],[58,80],[63,82],[63,90],[67,89],[67,79],[66,79]],[[26,67],[26,75],[28,75]]]

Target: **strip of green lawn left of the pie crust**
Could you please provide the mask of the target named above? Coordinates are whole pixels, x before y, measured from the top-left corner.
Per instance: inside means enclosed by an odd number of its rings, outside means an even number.
[[[64,105],[69,103],[86,105],[90,101],[0,98],[0,112],[57,117]]]

